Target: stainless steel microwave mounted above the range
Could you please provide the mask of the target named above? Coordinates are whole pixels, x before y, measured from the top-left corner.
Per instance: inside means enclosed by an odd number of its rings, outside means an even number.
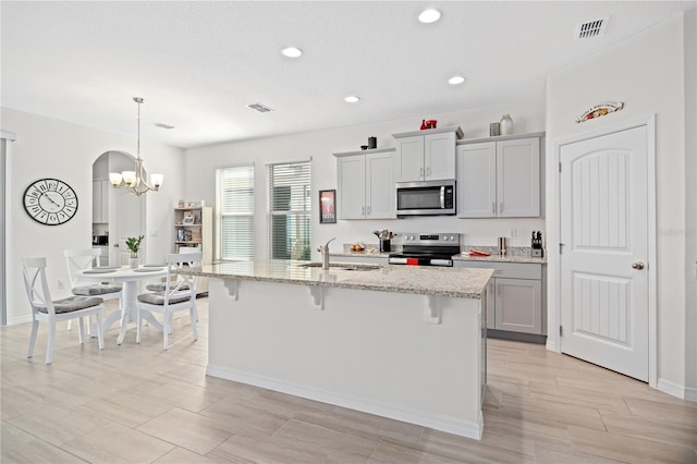
[[[455,180],[398,182],[396,216],[454,215]]]

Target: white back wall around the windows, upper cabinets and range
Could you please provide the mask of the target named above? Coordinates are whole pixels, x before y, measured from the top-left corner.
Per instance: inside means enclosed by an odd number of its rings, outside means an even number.
[[[347,111],[350,108],[347,107]],[[500,108],[463,110],[457,112],[428,114],[426,119],[438,120],[438,126],[460,125],[465,138],[486,137],[489,123],[510,113],[514,121],[514,133],[545,131],[543,101],[521,101]],[[216,199],[215,169],[221,166],[255,162],[255,230],[257,258],[267,257],[267,192],[266,163],[282,160],[313,159],[313,208],[318,207],[318,191],[337,188],[337,161],[332,154],[355,151],[367,145],[369,136],[378,138],[378,148],[394,147],[392,134],[416,131],[421,117],[306,132],[294,135],[229,143],[203,148],[187,149],[185,167],[187,174],[186,198],[205,199],[213,205]],[[339,193],[338,193],[339,195]],[[318,215],[316,215],[318,216]],[[505,236],[510,228],[517,230],[517,239],[510,245],[529,246],[533,230],[545,231],[543,219],[456,219],[454,217],[409,218],[394,220],[339,220],[337,224],[319,224],[313,220],[313,256],[318,258],[316,245],[338,237],[333,246],[343,243],[365,242],[377,244],[371,233],[376,229],[398,232],[457,232],[465,234],[465,244],[492,245],[497,236]]]

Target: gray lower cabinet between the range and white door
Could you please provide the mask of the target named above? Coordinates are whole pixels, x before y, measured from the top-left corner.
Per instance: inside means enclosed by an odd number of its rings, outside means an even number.
[[[494,269],[487,293],[489,337],[543,343],[546,269],[541,264],[456,260],[456,267]]]

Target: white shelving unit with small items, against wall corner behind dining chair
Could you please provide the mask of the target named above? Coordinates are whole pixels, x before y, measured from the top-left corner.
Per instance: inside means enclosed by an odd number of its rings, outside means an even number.
[[[200,251],[204,254],[203,264],[209,265],[213,257],[213,211],[211,207],[196,205],[174,208],[174,253]],[[206,292],[208,280],[200,278],[198,293]]]

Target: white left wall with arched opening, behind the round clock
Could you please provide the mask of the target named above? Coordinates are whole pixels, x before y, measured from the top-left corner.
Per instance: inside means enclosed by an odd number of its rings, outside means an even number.
[[[103,152],[135,151],[132,135],[114,134],[22,111],[1,109],[2,130],[16,134],[8,158],[7,277],[8,323],[29,320],[22,281],[22,257],[46,256],[52,296],[68,296],[58,280],[68,279],[63,249],[91,246],[93,163]],[[162,172],[159,193],[147,194],[148,260],[161,260],[173,251],[173,207],[182,197],[183,150],[143,141],[143,158],[149,172]],[[77,213],[62,225],[48,227],[24,211],[27,185],[41,178],[70,184],[78,197]],[[150,232],[156,231],[157,237]]]

